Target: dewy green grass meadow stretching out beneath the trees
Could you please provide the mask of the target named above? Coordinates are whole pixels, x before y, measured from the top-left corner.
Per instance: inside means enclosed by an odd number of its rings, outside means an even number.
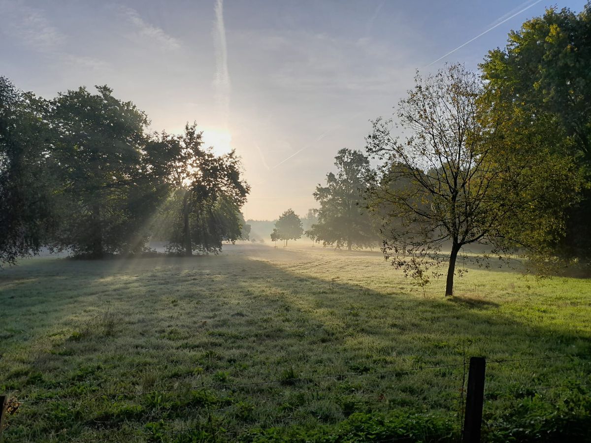
[[[25,260],[0,271],[5,439],[457,441],[463,361],[485,356],[485,441],[589,441],[591,281],[443,285],[297,245]]]

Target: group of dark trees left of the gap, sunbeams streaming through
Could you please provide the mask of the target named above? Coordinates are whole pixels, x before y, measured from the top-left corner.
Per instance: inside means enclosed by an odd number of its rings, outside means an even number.
[[[249,193],[234,152],[215,155],[196,125],[149,133],[107,86],[44,100],[0,77],[0,264],[41,246],[77,255],[217,251],[242,235]]]

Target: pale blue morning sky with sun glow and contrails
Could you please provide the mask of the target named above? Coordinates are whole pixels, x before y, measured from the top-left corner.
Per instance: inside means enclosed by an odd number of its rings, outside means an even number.
[[[0,74],[51,98],[108,84],[151,130],[196,121],[235,149],[246,219],[304,216],[340,148],[361,149],[415,72],[477,70],[510,30],[586,0],[0,0]]]

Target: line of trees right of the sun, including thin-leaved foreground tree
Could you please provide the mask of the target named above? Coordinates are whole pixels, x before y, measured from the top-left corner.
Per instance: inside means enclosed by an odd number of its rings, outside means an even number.
[[[337,247],[377,239],[420,284],[479,244],[519,248],[540,271],[591,255],[591,4],[548,9],[490,51],[482,75],[461,65],[417,74],[396,119],[376,119],[366,152],[342,149],[314,197],[306,233]],[[272,236],[301,236],[293,211]],[[292,220],[290,229],[284,223]],[[442,248],[449,249],[443,254]]]

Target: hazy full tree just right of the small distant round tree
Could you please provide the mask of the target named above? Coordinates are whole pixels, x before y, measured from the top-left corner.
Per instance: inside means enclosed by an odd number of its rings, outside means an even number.
[[[372,219],[364,210],[363,196],[372,184],[368,158],[360,151],[340,149],[335,157],[336,174],[326,175],[326,186],[318,185],[314,198],[320,203],[318,220],[309,236],[323,245],[363,247],[375,242]]]

